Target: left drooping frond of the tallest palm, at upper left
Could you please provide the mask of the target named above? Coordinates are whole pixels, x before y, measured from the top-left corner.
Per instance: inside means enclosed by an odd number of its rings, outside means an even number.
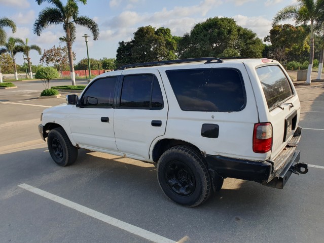
[[[33,25],[33,32],[34,34],[40,36],[43,29],[45,29],[49,25],[60,24],[63,22],[63,16],[59,9],[45,8],[40,12],[38,19]]]

